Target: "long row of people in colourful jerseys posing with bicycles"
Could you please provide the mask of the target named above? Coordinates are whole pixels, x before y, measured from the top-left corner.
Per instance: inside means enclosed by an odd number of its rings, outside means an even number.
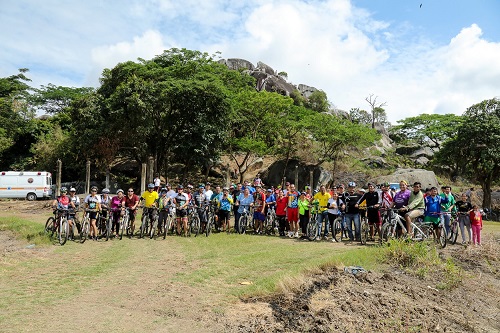
[[[210,183],[199,184],[197,188],[193,185],[178,185],[173,189],[169,184],[162,187],[158,182],[148,184],[147,190],[141,196],[136,195],[133,188],[129,188],[127,193],[119,189],[115,196],[110,196],[110,191],[105,188],[98,195],[97,187],[92,187],[90,194],[84,199],[83,208],[89,213],[89,236],[94,240],[97,240],[99,234],[98,219],[108,216],[112,220],[115,237],[118,237],[118,221],[125,210],[128,210],[130,235],[133,235],[137,211],[143,207],[143,215],[147,214],[150,220],[157,219],[158,226],[165,225],[164,222],[173,210],[175,232],[184,236],[188,235],[188,218],[192,210],[198,214],[202,232],[207,227],[207,212],[212,210],[219,231],[241,230],[239,222],[241,216],[245,215],[253,222],[253,233],[264,234],[264,221],[271,214],[273,229],[280,236],[311,240],[311,237],[307,237],[307,226],[315,223],[317,229],[313,239],[318,241],[329,240],[330,233],[332,241],[337,241],[333,235],[334,223],[341,216],[345,237],[350,241],[360,241],[361,219],[367,220],[369,237],[374,239],[377,233],[380,237],[384,212],[392,209],[404,218],[408,234],[412,234],[412,221],[423,216],[425,222],[432,223],[438,237],[441,226],[444,226],[442,232],[449,235],[451,215],[458,212],[463,243],[471,242],[472,229],[473,235],[478,235],[473,239],[473,243],[480,244],[480,234],[475,232],[473,225],[478,222],[482,226],[482,220],[477,221],[478,214],[475,212],[478,207],[473,207],[465,194],[461,200],[456,201],[449,186],[442,187],[442,193],[438,194],[436,187],[422,191],[419,182],[412,184],[410,189],[404,180],[399,182],[398,191],[390,188],[389,183],[378,186],[368,183],[367,187],[368,190],[358,188],[357,184],[351,181],[347,187],[343,184],[330,188],[321,185],[319,190],[313,192],[310,186],[306,186],[304,191],[299,192],[294,184],[287,182],[283,187],[265,189],[258,177],[252,184],[246,181],[229,187],[217,185],[213,190]],[[69,195],[64,187],[60,192],[61,195],[54,200],[53,206],[68,209],[68,221],[72,225],[80,207],[80,199],[75,188],[70,188]],[[315,216],[314,221],[312,216]],[[161,231],[158,228],[158,232]]]

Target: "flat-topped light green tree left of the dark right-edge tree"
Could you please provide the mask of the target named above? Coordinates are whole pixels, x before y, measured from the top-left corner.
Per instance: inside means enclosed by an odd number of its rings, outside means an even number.
[[[390,137],[400,144],[414,143],[439,150],[442,144],[457,135],[463,117],[454,114],[421,114],[398,120],[399,125],[391,127]]]

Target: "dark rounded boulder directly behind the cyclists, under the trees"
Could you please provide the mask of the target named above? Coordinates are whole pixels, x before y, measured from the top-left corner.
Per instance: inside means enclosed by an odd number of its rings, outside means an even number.
[[[296,171],[297,170],[297,171]],[[280,185],[283,182],[283,171],[286,181],[295,182],[295,173],[298,173],[298,189],[304,189],[309,184],[310,172],[313,172],[313,187],[318,187],[318,184],[327,184],[333,180],[333,175],[316,165],[304,164],[298,160],[289,160],[285,169],[285,160],[274,162],[261,173],[261,179],[264,184]]]

